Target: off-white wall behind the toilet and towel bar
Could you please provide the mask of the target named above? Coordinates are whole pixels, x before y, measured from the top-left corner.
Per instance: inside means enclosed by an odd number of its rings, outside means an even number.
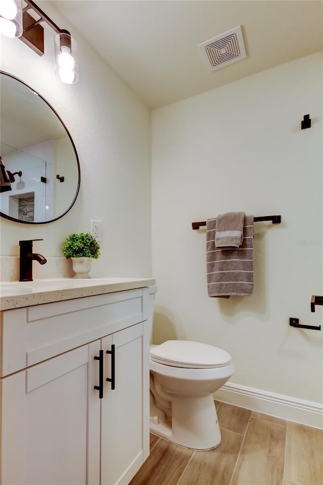
[[[321,60],[152,112],[154,343],[218,346],[236,365],[231,382],[312,402],[322,401],[323,332],[289,327],[289,317],[323,323],[322,307],[310,312],[311,295],[323,294]],[[312,127],[300,130],[308,113]],[[253,295],[208,298],[205,228],[191,223],[230,211],[282,223],[254,226]]]

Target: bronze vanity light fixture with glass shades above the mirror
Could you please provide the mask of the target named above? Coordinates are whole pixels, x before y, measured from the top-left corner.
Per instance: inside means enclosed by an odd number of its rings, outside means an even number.
[[[22,8],[22,0],[0,0],[0,32],[9,37],[19,37],[38,56],[44,54],[44,29],[40,25],[45,22],[56,33],[55,36],[55,74],[61,81],[68,84],[77,82],[79,78],[78,65],[75,59],[76,42],[68,30],[60,29],[31,0],[23,0],[26,7]],[[39,19],[29,15],[33,10]],[[17,12],[15,14],[15,12]],[[9,25],[12,24],[12,25]]]

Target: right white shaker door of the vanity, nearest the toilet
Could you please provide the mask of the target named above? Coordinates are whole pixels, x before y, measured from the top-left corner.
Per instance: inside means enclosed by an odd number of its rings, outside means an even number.
[[[103,338],[104,380],[111,377],[115,346],[115,389],[105,381],[101,399],[101,485],[128,484],[143,463],[143,325]]]

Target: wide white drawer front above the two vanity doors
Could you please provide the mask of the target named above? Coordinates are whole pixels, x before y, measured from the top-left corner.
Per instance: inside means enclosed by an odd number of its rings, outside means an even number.
[[[1,376],[146,319],[145,289],[2,312]]]

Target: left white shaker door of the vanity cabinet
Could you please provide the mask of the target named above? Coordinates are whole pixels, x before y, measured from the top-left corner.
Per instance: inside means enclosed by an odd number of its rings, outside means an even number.
[[[99,483],[100,341],[2,379],[2,483]]]

